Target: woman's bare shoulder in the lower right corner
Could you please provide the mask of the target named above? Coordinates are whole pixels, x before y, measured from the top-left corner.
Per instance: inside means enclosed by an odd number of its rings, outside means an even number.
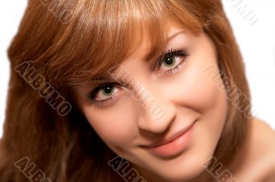
[[[275,181],[275,131],[265,122],[250,122],[248,139],[228,169],[239,181]]]

